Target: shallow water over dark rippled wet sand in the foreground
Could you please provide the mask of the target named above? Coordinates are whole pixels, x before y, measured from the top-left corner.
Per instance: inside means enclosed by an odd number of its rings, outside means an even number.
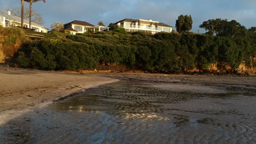
[[[11,121],[0,129],[3,132],[0,140],[9,143],[256,143],[254,94],[205,85],[196,86],[201,88],[198,92],[174,91],[166,85],[121,80],[91,88]],[[189,89],[189,85],[184,87]],[[214,93],[207,92],[208,89],[214,89]]]

